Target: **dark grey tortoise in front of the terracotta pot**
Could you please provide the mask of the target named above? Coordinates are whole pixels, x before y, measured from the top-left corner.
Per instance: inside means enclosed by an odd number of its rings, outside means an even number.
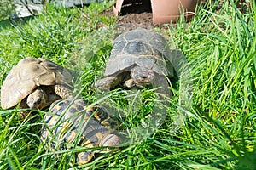
[[[113,49],[101,80],[94,87],[108,90],[122,84],[143,88],[149,84],[170,96],[166,76],[173,76],[171,51],[165,37],[143,28],[127,31],[113,41]]]

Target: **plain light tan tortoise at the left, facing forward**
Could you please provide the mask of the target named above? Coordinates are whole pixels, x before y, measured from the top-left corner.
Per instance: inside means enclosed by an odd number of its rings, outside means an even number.
[[[1,106],[43,109],[57,99],[73,97],[72,74],[48,59],[26,58],[15,65],[3,82]],[[21,101],[21,102],[20,102]],[[24,118],[28,111],[21,111]]]

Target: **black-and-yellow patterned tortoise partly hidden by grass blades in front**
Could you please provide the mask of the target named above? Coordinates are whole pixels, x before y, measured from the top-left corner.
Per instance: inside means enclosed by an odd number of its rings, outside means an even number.
[[[49,113],[44,116],[41,135],[49,150],[66,150],[76,145],[108,146],[107,150],[112,150],[109,146],[119,144],[119,136],[113,133],[117,122],[99,105],[88,106],[84,99],[61,99],[50,105]],[[88,150],[79,152],[76,162],[86,164],[94,155]]]

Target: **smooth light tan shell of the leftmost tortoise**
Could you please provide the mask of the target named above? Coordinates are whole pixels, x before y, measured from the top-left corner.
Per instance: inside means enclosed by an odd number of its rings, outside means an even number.
[[[3,109],[14,107],[39,86],[68,86],[72,81],[73,76],[69,71],[48,59],[21,59],[3,82],[1,106]]]

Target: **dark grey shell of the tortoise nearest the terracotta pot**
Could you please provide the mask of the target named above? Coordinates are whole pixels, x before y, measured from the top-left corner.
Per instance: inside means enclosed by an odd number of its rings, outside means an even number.
[[[113,41],[113,49],[105,76],[117,76],[130,71],[134,65],[143,66],[160,75],[173,76],[171,51],[165,37],[139,28],[127,31]]]

